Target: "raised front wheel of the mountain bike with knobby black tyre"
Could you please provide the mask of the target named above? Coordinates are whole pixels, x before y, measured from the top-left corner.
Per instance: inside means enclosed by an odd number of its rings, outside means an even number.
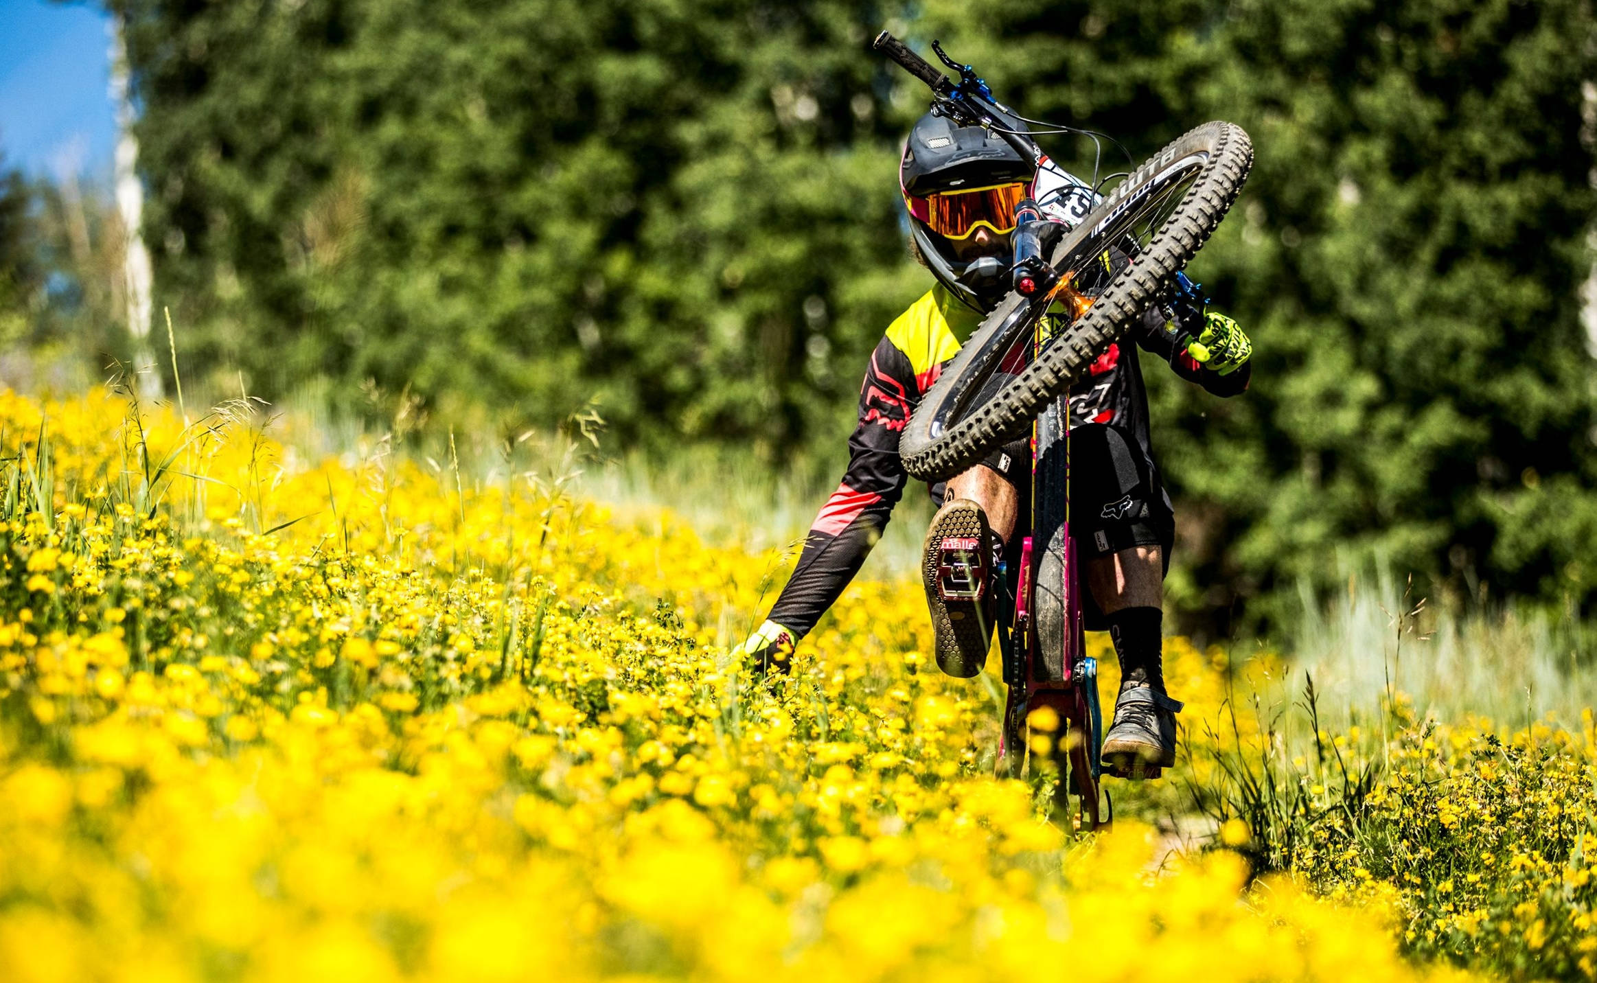
[[[1158,300],[1220,225],[1254,163],[1241,126],[1204,123],[1172,140],[1049,254],[1052,298],[1011,292],[921,399],[899,442],[921,480],[960,474],[1035,420],[1110,341]],[[1072,322],[1032,351],[1038,322],[1064,302]]]

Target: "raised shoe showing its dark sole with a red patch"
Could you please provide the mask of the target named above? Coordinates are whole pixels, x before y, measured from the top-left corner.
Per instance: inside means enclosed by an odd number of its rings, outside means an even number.
[[[987,664],[998,608],[992,565],[987,512],[966,498],[937,509],[926,530],[921,581],[937,667],[952,677],[969,678]]]

